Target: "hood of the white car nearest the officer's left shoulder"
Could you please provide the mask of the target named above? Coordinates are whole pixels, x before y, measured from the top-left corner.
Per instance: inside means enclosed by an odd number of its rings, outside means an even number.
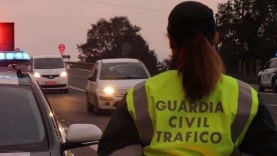
[[[140,82],[145,81],[146,79],[134,79],[134,80],[98,80],[97,87],[105,88],[111,86],[115,89],[129,89]]]

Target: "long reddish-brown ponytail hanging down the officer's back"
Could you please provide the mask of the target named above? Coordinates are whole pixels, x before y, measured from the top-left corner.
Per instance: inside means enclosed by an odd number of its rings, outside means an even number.
[[[211,39],[213,40],[213,37]],[[177,69],[183,76],[183,88],[191,101],[208,96],[221,79],[224,72],[223,62],[219,54],[202,33],[183,40],[174,47],[177,51]]]

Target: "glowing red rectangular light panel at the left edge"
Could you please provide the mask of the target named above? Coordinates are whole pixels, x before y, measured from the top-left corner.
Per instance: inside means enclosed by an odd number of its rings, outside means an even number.
[[[14,51],[14,23],[0,23],[0,51]]]

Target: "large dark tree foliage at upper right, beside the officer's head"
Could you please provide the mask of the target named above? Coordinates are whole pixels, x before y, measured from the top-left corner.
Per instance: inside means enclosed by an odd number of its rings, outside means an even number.
[[[221,35],[218,51],[228,72],[238,69],[238,60],[263,62],[277,51],[277,1],[228,0],[218,6]]]

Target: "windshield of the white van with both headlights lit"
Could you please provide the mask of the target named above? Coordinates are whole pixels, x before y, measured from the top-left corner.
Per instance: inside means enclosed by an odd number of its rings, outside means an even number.
[[[35,69],[55,69],[64,68],[62,58],[44,58],[44,59],[34,59]]]

